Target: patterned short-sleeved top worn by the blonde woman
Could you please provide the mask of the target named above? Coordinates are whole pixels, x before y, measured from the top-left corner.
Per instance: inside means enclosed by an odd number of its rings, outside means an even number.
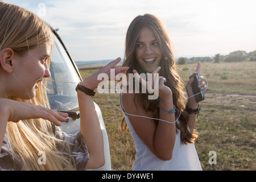
[[[77,170],[84,170],[85,166],[89,159],[88,150],[86,144],[84,142],[84,138],[81,133],[77,133],[75,135],[66,134],[60,131],[60,129],[56,130],[55,125],[52,125],[53,132],[57,139],[64,140],[67,143],[72,143],[69,148],[69,152],[72,153],[73,159],[75,161],[75,167]],[[62,133],[62,138],[60,138],[59,132]],[[65,148],[65,147],[61,147]],[[40,156],[39,156],[40,157]],[[3,138],[3,144],[0,154],[0,171],[21,171],[22,165],[19,160],[14,159],[10,154],[10,148],[6,143],[6,138]]]

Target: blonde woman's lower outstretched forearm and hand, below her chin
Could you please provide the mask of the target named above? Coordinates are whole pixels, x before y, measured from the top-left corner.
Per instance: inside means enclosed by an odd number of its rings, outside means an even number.
[[[9,100],[0,98],[0,113],[6,115],[8,121],[19,122],[22,119],[47,119],[56,126],[60,126],[61,122],[65,122],[68,117],[67,113],[60,113],[57,110],[48,109],[46,107],[34,105],[31,103]]]

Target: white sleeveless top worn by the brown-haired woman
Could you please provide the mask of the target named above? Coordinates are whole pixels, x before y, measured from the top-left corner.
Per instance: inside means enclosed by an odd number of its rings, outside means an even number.
[[[121,95],[119,95],[121,104]],[[122,108],[123,110],[123,108]],[[129,127],[131,137],[134,140],[136,149],[135,161],[132,169],[134,171],[201,171],[201,164],[197,156],[196,148],[193,143],[182,144],[180,133],[176,135],[175,146],[171,160],[160,160],[150,149],[139,139],[135,133],[129,118],[124,114],[125,121]]]

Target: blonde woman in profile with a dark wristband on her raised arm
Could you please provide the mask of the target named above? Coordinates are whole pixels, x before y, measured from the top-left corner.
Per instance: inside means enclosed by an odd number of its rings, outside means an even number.
[[[33,13],[0,1],[0,169],[83,170],[104,165],[100,123],[90,94],[77,90],[81,126],[76,135],[58,126],[68,117],[48,109],[42,80],[50,76],[51,29]],[[97,88],[97,75],[109,73],[112,61],[85,78],[80,87]],[[115,68],[125,72],[127,68]],[[47,79],[46,79],[47,80]],[[43,152],[46,162],[39,162]]]

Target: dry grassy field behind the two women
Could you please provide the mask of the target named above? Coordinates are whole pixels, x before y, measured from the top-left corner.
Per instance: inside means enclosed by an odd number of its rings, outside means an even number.
[[[179,65],[184,82],[196,64]],[[195,146],[203,170],[256,170],[256,62],[203,63],[201,72],[209,88],[201,102]],[[82,78],[97,71],[80,71]],[[118,94],[108,94],[119,107]],[[135,148],[129,131],[121,133],[122,113],[104,94],[96,93],[109,137],[113,170],[131,170]],[[209,164],[210,151],[217,154],[217,164]]]

